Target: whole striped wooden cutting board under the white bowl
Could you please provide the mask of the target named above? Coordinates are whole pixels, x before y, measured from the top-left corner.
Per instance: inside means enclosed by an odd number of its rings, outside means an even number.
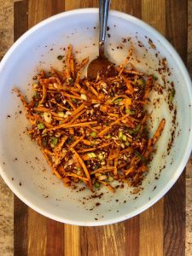
[[[69,9],[97,7],[96,0],[24,0],[15,3],[15,40],[31,26]],[[154,26],[186,62],[187,0],[112,0],[111,9]],[[15,256],[184,255],[185,178],[154,207],[119,224],[78,227],[45,218],[15,196]]]

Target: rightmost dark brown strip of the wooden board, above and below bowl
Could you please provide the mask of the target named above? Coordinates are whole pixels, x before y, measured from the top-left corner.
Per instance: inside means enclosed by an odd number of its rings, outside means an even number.
[[[166,38],[187,61],[188,1],[166,1]],[[185,172],[165,196],[164,253],[185,254]]]

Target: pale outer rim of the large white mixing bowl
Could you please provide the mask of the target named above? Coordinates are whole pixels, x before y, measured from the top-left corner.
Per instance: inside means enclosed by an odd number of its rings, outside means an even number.
[[[15,49],[17,49],[17,47],[20,44],[22,44],[28,36],[32,35],[33,32],[36,32],[42,26],[47,26],[47,25],[49,25],[49,23],[51,23],[54,20],[59,20],[59,19],[65,18],[70,15],[97,14],[97,13],[98,13],[97,8],[74,9],[74,10],[70,10],[67,12],[62,12],[58,15],[53,15],[53,16],[49,17],[48,19],[39,22],[37,25],[32,26],[31,29],[29,29],[19,39],[17,39],[15,41],[15,44],[13,44],[10,47],[10,49],[7,51],[7,53],[4,55],[3,60],[0,62],[0,73],[3,71],[3,68],[6,65],[7,61],[9,61],[9,58],[11,57],[11,55],[15,52]],[[181,57],[177,54],[177,51],[176,51],[176,49],[173,48],[172,44],[170,44],[166,40],[166,38],[163,35],[161,35],[160,32],[156,31],[152,26],[149,26],[143,20],[140,20],[132,15],[127,15],[123,12],[119,12],[116,10],[110,10],[109,16],[115,16],[122,20],[128,20],[128,21],[131,20],[131,22],[136,24],[137,26],[144,27],[148,32],[153,33],[155,38],[160,38],[161,44],[163,44],[164,47],[170,52],[170,54],[172,55],[172,59],[177,62],[177,66],[183,73],[183,77],[185,78],[185,80],[184,80],[185,84],[189,90],[190,102],[192,102],[192,84],[191,84],[191,79],[189,77],[189,73],[188,73],[187,68],[185,67]],[[192,113],[191,108],[190,108],[190,112]],[[167,191],[172,188],[173,184],[176,183],[177,178],[181,175],[184,167],[187,164],[187,161],[189,160],[189,156],[190,156],[190,153],[192,150],[192,119],[191,119],[189,128],[191,129],[191,131],[189,132],[189,140],[188,140],[186,148],[184,149],[183,158],[180,161],[180,164],[177,166],[174,176],[165,184],[164,187],[162,187],[162,189],[160,190],[160,192],[157,195],[155,195],[153,198],[151,198],[151,200],[148,201],[147,203],[145,203],[142,207],[139,207],[130,213],[123,214],[117,218],[110,218],[108,220],[99,220],[99,221],[88,221],[88,222],[79,221],[79,220],[71,220],[70,218],[68,218],[68,219],[61,218],[59,216],[56,216],[53,213],[49,213],[48,211],[44,210],[43,207],[38,207],[37,205],[32,203],[30,200],[28,200],[26,198],[26,196],[22,195],[22,193],[20,193],[18,191],[18,189],[16,188],[15,184],[9,180],[9,177],[6,175],[6,173],[3,172],[3,165],[0,166],[0,174],[3,177],[4,182],[7,183],[7,185],[9,186],[9,189],[11,189],[15,193],[15,195],[20,198],[21,201],[23,201],[28,207],[31,207],[33,210],[44,215],[47,218],[52,218],[61,223],[74,224],[74,225],[79,225],[79,226],[99,226],[99,225],[106,225],[106,224],[114,224],[114,223],[118,223],[120,221],[124,221],[125,219],[132,218],[132,217],[136,216],[137,214],[145,211],[149,207],[153,206],[154,203],[159,201],[160,198],[162,198],[167,193]]]

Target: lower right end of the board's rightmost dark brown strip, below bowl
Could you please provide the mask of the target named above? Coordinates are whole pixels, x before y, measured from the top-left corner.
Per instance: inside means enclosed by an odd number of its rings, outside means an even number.
[[[164,253],[185,255],[185,172],[165,195]]]

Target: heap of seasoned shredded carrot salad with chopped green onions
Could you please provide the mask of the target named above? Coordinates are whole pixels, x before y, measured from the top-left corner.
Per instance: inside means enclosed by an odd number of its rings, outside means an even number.
[[[131,64],[133,49],[112,76],[101,72],[90,80],[81,78],[89,59],[78,63],[69,45],[65,70],[42,70],[29,103],[15,90],[31,124],[27,134],[67,187],[83,182],[91,191],[101,185],[114,192],[113,181],[138,186],[148,172],[166,119],[149,138],[146,106],[154,79]]]

